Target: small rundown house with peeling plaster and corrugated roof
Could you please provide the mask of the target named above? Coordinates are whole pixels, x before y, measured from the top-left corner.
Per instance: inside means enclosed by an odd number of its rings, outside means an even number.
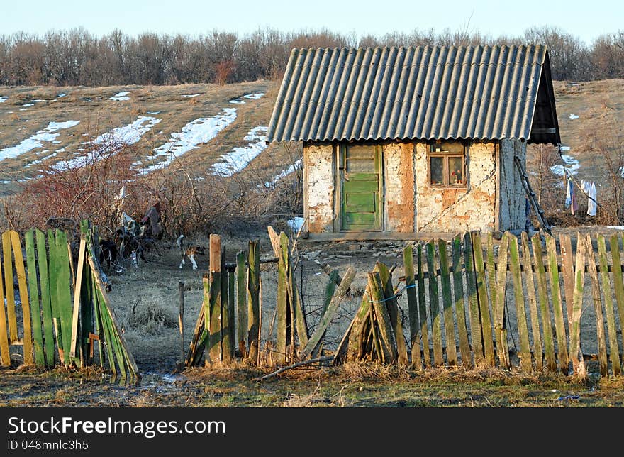
[[[561,142],[548,51],[294,49],[267,141],[303,143],[311,238],[523,229],[527,144]]]

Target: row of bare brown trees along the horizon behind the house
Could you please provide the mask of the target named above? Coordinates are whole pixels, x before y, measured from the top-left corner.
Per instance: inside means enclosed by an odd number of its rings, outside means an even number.
[[[492,38],[450,30],[388,33],[357,38],[328,30],[284,33],[272,28],[206,35],[114,30],[96,36],[83,28],[0,35],[0,85],[177,84],[279,78],[292,48],[543,43],[553,77],[587,81],[624,77],[624,31],[601,35],[591,45],[559,28],[533,26],[523,36]]]

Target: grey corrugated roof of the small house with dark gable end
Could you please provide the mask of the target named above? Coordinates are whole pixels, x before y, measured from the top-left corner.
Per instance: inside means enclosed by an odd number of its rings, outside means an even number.
[[[292,50],[267,141],[415,138],[559,143],[546,47]]]

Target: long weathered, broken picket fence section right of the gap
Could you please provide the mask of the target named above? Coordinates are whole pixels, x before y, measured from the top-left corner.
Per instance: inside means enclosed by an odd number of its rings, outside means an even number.
[[[622,375],[624,281],[622,238],[535,234],[500,241],[475,231],[406,243],[404,274],[377,263],[367,273],[360,308],[334,351],[323,338],[355,276],[328,274],[323,314],[308,329],[284,233],[269,227],[277,263],[275,322],[262,323],[258,241],[228,264],[218,236],[211,236],[211,268],[204,276],[201,307],[186,366],[245,360],[281,366],[306,360],[372,360],[422,370],[518,366],[524,373]],[[260,342],[262,326],[267,341]],[[582,332],[581,332],[582,328]],[[238,331],[235,331],[238,330]],[[238,350],[236,346],[238,345]],[[587,353],[586,347],[596,351]]]

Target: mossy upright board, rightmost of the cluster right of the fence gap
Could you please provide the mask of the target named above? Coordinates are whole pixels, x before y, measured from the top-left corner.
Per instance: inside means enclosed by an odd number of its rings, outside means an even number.
[[[260,349],[260,241],[250,241],[247,248],[247,342],[248,358],[257,364]]]

